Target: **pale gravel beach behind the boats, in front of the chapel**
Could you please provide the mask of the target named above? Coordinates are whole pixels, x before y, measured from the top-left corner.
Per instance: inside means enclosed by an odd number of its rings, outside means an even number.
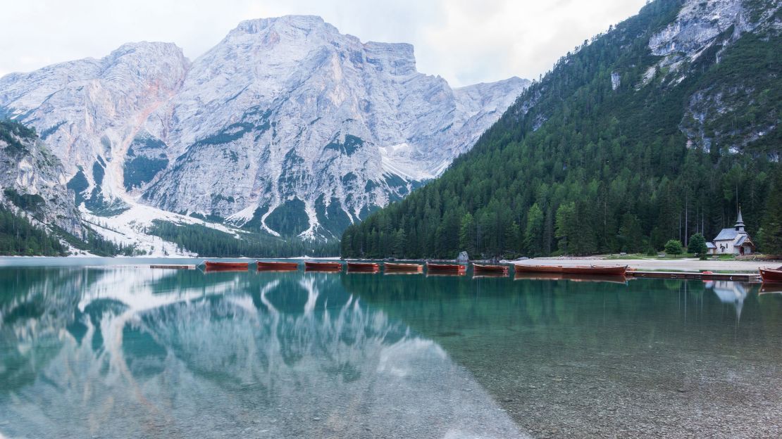
[[[759,268],[776,268],[782,265],[779,261],[720,261],[697,258],[681,259],[605,259],[605,258],[535,258],[523,261],[512,261],[518,265],[553,265],[553,266],[628,266],[640,270],[665,270],[665,271],[701,271],[714,272],[755,272]]]

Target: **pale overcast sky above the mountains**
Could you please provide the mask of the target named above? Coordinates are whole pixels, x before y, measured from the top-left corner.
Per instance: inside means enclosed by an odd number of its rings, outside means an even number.
[[[455,86],[533,79],[646,0],[2,0],[0,76],[170,41],[195,59],[241,20],[322,16],[361,41],[415,46],[418,70]]]

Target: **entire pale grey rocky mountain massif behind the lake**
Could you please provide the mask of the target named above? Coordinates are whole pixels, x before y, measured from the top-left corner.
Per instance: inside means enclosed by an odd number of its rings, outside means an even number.
[[[316,16],[239,24],[189,62],[175,45],[0,79],[0,111],[36,127],[105,216],[136,203],[271,233],[339,236],[436,177],[529,81],[452,88],[413,47]]]

